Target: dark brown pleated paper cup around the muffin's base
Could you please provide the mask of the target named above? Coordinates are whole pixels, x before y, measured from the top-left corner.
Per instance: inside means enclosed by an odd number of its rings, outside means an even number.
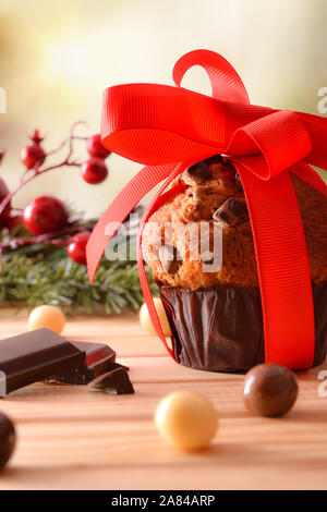
[[[209,287],[187,290],[160,287],[172,331],[174,357],[207,371],[246,371],[264,363],[264,326],[258,288]],[[313,287],[315,359],[327,352],[327,283]]]

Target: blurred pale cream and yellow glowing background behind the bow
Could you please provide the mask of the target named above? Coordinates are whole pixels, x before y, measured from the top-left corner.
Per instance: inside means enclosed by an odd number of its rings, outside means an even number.
[[[71,124],[81,135],[99,131],[101,93],[114,84],[172,85],[184,52],[222,53],[241,74],[251,101],[317,112],[327,86],[326,0],[0,0],[1,174],[13,187],[22,172],[21,148],[35,127],[45,147],[57,147]],[[184,86],[209,93],[204,73],[192,70]],[[83,142],[76,144],[81,158]],[[110,176],[87,185],[75,168],[60,169],[26,186],[24,206],[51,194],[77,211],[100,214],[138,166],[118,156]]]

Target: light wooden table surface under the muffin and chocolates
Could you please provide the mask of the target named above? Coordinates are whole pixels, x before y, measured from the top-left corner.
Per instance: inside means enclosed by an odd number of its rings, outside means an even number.
[[[22,333],[26,313],[2,309],[0,322],[1,338]],[[178,366],[136,316],[76,317],[63,334],[109,343],[131,367],[135,394],[36,383],[3,399],[19,442],[0,489],[327,488],[327,397],[318,394],[327,364],[299,374],[294,409],[267,419],[245,411],[242,376]],[[219,412],[215,442],[202,452],[174,450],[156,431],[157,403],[179,389],[204,393]]]

